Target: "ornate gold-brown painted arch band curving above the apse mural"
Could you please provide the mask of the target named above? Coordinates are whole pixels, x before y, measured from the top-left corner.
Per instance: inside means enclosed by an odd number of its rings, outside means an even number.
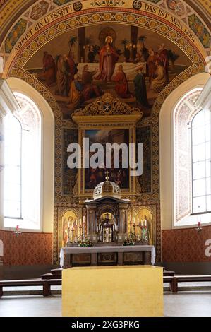
[[[115,6],[109,8],[100,7],[97,8],[98,12],[96,13],[96,8],[93,8],[89,1],[83,1],[83,10],[74,11],[71,8],[70,13],[64,14],[64,16],[59,18],[58,13],[52,11],[50,15],[44,16],[40,23],[31,25],[30,29],[16,42],[16,46],[13,47],[8,57],[4,77],[17,76],[18,71],[23,69],[26,61],[35,54],[37,49],[49,42],[53,37],[56,37],[56,35],[64,31],[71,31],[74,28],[102,23],[102,20],[106,24],[122,23],[159,32],[164,37],[174,40],[174,43],[183,49],[183,52],[193,60],[195,69],[198,69],[198,72],[204,70],[205,57],[207,56],[205,49],[198,37],[190,32],[190,28],[185,23],[182,23],[182,25],[177,24],[177,18],[173,14],[166,16],[169,19],[165,18],[165,15],[161,16],[159,14],[160,8],[157,6],[153,6],[153,8],[157,8],[157,12],[150,13],[141,9],[138,11],[131,8],[133,6],[132,1],[130,2],[131,4],[128,4],[126,8]],[[64,13],[66,13],[65,9],[69,7],[70,5],[62,7]],[[164,11],[164,13],[167,12]]]

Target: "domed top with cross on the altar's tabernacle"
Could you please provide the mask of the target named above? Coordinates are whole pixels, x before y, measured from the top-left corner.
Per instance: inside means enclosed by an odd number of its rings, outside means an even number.
[[[98,199],[106,196],[121,199],[121,189],[119,188],[118,184],[109,181],[108,172],[106,176],[106,181],[100,182],[100,184],[97,184],[97,186],[95,186],[93,198]]]

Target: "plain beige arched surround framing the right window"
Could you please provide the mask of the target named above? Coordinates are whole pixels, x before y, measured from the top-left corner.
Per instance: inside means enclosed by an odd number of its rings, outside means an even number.
[[[174,110],[187,94],[202,89],[209,78],[208,73],[200,73],[183,82],[167,97],[159,113],[160,200],[161,223],[164,230],[193,227],[197,223],[197,218],[193,218],[189,225],[175,226],[174,224],[176,213],[174,206]]]

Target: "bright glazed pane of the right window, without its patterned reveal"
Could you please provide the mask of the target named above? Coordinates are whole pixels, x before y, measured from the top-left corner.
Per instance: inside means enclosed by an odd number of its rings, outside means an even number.
[[[211,112],[202,110],[192,121],[193,213],[211,212]]]

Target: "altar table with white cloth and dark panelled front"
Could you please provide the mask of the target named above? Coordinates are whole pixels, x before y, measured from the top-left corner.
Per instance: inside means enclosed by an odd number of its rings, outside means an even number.
[[[60,266],[145,265],[147,253],[155,265],[154,246],[64,247],[60,251]]]

